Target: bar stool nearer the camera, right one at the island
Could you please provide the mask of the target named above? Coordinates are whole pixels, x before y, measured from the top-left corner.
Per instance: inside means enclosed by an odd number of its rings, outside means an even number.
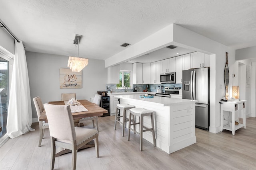
[[[133,123],[131,124],[131,116],[138,116],[139,122],[135,122],[135,119],[133,119]],[[150,116],[151,117],[151,128],[147,128],[143,126],[143,117],[144,116]],[[137,125],[140,124],[140,133],[136,132],[135,129],[131,129],[131,125]],[[145,130],[143,130],[143,128]],[[142,151],[142,133],[146,131],[151,131],[153,136],[153,144],[154,147],[156,146],[156,137],[155,137],[155,128],[154,128],[154,117],[153,117],[153,111],[146,110],[142,108],[132,108],[130,109],[130,115],[129,115],[129,125],[128,125],[128,141],[130,141],[130,130],[134,131],[138,135],[140,135],[140,151]]]

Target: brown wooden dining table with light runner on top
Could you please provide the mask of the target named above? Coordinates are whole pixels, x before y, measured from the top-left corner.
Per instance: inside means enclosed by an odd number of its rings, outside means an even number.
[[[103,113],[108,113],[108,110],[92,103],[89,102],[88,100],[78,100],[78,102],[86,108],[88,111],[80,111],[80,112],[74,112],[72,113],[73,119],[81,119],[84,117],[94,117],[94,116],[103,116]],[[48,104],[54,104],[54,105],[65,105],[65,101],[54,101],[54,102],[48,102]],[[45,111],[42,112],[42,114],[39,117],[39,121],[47,121],[47,113]],[[89,148],[89,147],[94,147],[94,141],[90,141],[84,147],[81,149]],[[80,150],[80,149],[79,149]],[[63,148],[58,148],[56,149],[56,154],[55,156],[60,156],[62,154],[66,154],[71,152],[69,149],[63,149]]]

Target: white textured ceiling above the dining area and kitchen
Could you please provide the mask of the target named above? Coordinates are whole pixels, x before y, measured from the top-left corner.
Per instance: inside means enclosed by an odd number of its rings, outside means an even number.
[[[107,59],[176,23],[240,49],[256,45],[255,0],[2,0],[0,20],[26,51]],[[189,38],[189,37],[188,37]]]

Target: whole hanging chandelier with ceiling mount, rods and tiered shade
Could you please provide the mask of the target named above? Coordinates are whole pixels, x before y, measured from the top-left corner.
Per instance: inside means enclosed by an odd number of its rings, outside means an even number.
[[[74,39],[74,44],[78,44],[78,57],[69,56],[68,58],[68,67],[73,72],[80,72],[85,66],[88,65],[88,59],[79,57],[79,40],[81,37],[82,35],[76,34]]]

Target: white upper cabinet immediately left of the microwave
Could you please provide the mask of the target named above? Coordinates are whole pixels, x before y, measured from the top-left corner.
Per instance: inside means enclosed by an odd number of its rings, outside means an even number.
[[[160,84],[161,61],[150,63],[150,84]]]

